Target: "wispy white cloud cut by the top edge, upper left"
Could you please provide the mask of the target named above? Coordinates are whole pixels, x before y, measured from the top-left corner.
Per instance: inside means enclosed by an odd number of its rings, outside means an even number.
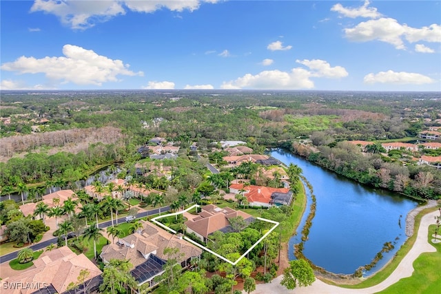
[[[34,0],[30,12],[45,12],[54,14],[65,25],[72,29],[85,30],[97,22],[103,22],[125,14],[126,10],[136,12],[154,12],[166,8],[182,12],[194,11],[201,3],[216,3],[218,0],[106,0],[106,1],[78,1],[78,0]]]

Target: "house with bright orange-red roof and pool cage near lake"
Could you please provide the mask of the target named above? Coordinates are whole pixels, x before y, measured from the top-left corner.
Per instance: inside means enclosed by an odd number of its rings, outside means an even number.
[[[245,190],[245,192],[243,192]],[[289,205],[293,193],[288,188],[271,188],[264,186],[245,186],[243,184],[232,184],[229,186],[231,193],[243,193],[250,206],[272,207]]]

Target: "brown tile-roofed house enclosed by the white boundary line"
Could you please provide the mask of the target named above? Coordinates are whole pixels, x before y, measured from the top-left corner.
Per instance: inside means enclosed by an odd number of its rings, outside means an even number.
[[[254,218],[248,213],[240,210],[234,210],[229,207],[220,208],[214,204],[208,204],[201,207],[202,211],[198,213],[196,218],[187,220],[187,233],[194,233],[201,241],[207,242],[208,235],[215,231],[229,233],[232,227],[229,224],[230,218],[241,216],[245,222],[251,223]]]

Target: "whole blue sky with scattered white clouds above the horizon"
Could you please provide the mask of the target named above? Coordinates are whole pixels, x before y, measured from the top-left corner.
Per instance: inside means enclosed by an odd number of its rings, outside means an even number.
[[[0,1],[1,90],[441,91],[441,1]]]

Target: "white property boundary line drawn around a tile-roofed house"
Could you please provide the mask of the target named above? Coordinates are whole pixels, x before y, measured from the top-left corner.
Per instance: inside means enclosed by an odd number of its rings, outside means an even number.
[[[183,214],[189,210],[194,209],[195,207],[200,207],[198,204],[194,204],[192,207],[189,207],[183,211],[178,211],[178,212],[174,212],[174,213],[167,213],[164,216],[156,216],[156,218],[152,218],[152,222],[154,222],[155,224],[157,224],[159,227],[163,227],[164,229],[166,229],[167,231],[171,231],[172,233],[174,233],[175,235],[178,233],[176,231],[174,231],[174,229],[170,229],[169,227],[167,227],[165,224],[161,224],[161,222],[158,222],[159,219],[161,218],[167,218],[169,216],[177,216],[178,214]],[[232,262],[231,260],[229,260],[228,258],[223,257],[222,255],[219,255],[218,253],[208,249],[207,247],[199,244],[198,242],[194,242],[193,240],[191,240],[190,238],[187,238],[184,236],[184,239],[187,240],[188,242],[198,246],[199,248],[212,253],[213,255],[215,255],[216,257],[220,258],[221,260],[224,260],[225,262],[229,262],[232,265],[236,265],[238,262],[240,262],[240,260],[242,258],[245,258],[245,255],[247,255],[249,253],[249,251],[252,251],[254,249],[254,247],[257,246],[257,244],[259,244],[260,242],[263,241],[263,239],[267,238],[267,235],[269,235],[269,233],[271,233],[272,231],[274,231],[274,229],[276,229],[276,227],[280,224],[279,222],[276,222],[274,220],[268,220],[266,218],[257,218],[258,220],[262,220],[263,222],[269,222],[271,224],[274,224],[273,227],[271,227],[271,229],[269,229],[269,231],[267,231],[267,233],[265,233],[265,235],[263,235],[256,243],[254,243],[251,247],[249,247],[249,249],[247,251],[245,251],[245,253],[243,253],[243,255],[240,256],[240,258],[238,258],[236,261]]]

